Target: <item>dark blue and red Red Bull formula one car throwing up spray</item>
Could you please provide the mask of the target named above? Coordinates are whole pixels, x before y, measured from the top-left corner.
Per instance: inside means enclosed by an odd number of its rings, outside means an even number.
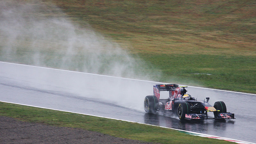
[[[186,94],[187,86],[179,87],[177,84],[156,84],[153,86],[154,95],[148,95],[144,100],[144,109],[147,113],[162,111],[177,114],[180,120],[199,119],[235,119],[233,113],[227,113],[223,101],[217,101],[213,107],[206,101],[199,101]],[[160,99],[160,91],[169,91],[168,99]],[[207,112],[213,112],[214,118],[208,118]]]

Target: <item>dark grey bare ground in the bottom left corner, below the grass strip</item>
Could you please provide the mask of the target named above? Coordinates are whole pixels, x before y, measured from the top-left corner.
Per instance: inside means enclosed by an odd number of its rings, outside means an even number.
[[[0,116],[0,143],[146,143],[83,129],[56,127]]]

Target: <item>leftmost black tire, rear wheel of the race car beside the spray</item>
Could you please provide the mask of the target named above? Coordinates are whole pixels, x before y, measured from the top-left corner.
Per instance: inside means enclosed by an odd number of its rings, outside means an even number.
[[[148,95],[144,99],[144,109],[147,113],[156,113],[158,109],[158,99],[154,95]]]

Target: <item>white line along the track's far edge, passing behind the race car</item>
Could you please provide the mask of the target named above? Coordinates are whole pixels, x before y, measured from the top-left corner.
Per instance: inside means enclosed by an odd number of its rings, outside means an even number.
[[[36,68],[45,68],[45,67],[38,67],[38,66],[17,64],[17,63],[4,62],[4,61],[0,61],[0,62],[2,62],[2,63],[9,63],[9,64],[15,64],[15,65],[22,65],[22,66],[30,66],[30,67],[36,67]],[[75,72],[75,73],[82,73],[82,74],[90,74],[90,75],[96,75],[96,76],[106,76],[106,75],[91,74],[91,73],[77,72],[77,71],[64,70],[64,69],[56,69],[56,68],[47,68],[47,69],[54,69],[54,70],[61,70],[61,71],[68,71],[68,72]],[[115,77],[115,78],[122,78],[122,79],[129,79],[129,80],[137,80],[137,81],[144,81],[144,82],[151,82],[151,83],[168,84],[168,83],[161,83],[161,82],[154,82],[154,81],[147,81],[147,80],[139,80],[139,79],[132,79],[132,78],[124,78],[124,77],[117,77],[117,76],[107,76],[107,77]],[[179,85],[182,85],[182,84],[179,84]],[[186,85],[186,86],[188,86],[188,85]],[[201,89],[207,89],[207,90],[215,90],[215,91],[222,91],[222,92],[233,92],[233,91],[227,91],[227,90],[218,90],[218,89],[211,89],[211,88],[204,88],[204,87],[196,87],[196,86],[189,86],[189,87],[201,88]],[[234,92],[234,93],[256,95],[256,94],[253,94],[253,93],[245,93],[245,92]]]

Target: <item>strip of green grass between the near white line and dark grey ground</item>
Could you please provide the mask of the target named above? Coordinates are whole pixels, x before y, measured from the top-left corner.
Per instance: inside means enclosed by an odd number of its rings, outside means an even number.
[[[156,126],[130,123],[120,120],[86,116],[43,108],[34,108],[0,102],[0,116],[46,125],[82,128],[115,137],[154,143],[230,143],[224,140],[192,136],[183,132]],[[193,141],[191,141],[193,139]]]

